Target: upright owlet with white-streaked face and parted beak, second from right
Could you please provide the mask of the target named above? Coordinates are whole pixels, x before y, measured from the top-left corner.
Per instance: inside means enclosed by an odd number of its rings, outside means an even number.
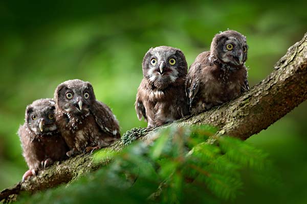
[[[135,103],[139,120],[159,126],[189,114],[185,95],[187,62],[178,48],[150,48],[143,59],[143,80]]]

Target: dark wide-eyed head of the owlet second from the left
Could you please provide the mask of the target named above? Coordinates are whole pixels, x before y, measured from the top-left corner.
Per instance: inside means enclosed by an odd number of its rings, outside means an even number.
[[[57,110],[69,115],[84,115],[90,112],[96,97],[90,82],[69,80],[57,86],[54,100]]]

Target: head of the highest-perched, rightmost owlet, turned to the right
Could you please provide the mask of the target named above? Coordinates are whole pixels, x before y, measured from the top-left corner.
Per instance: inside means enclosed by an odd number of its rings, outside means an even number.
[[[211,43],[211,56],[234,66],[243,65],[247,60],[246,37],[236,31],[228,30],[216,34]]]

